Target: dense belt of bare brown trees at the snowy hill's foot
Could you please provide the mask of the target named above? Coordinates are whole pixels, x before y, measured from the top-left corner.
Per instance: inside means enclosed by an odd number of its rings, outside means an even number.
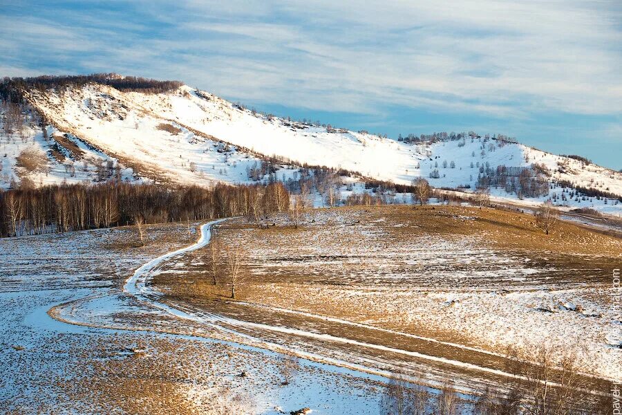
[[[0,191],[0,237],[287,211],[283,183],[164,188],[108,182]]]

